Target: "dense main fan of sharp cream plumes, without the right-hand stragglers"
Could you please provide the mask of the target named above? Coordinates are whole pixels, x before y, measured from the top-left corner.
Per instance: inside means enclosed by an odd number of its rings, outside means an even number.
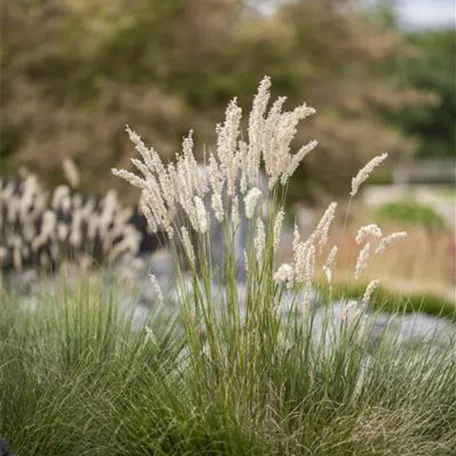
[[[224,219],[227,208],[223,195],[226,192],[232,204],[232,222],[236,225],[239,210],[236,186],[244,196],[247,218],[253,217],[258,199],[257,188],[261,164],[264,163],[268,186],[273,188],[280,181],[285,185],[300,161],[317,145],[311,141],[296,154],[290,153],[290,144],[300,120],[315,110],[306,104],[293,111],[283,112],[284,98],[279,98],[267,112],[271,81],[263,78],[254,98],[249,118],[248,143],[240,139],[242,110],[233,99],[225,112],[225,121],[217,125],[217,147],[208,160],[208,172],[202,172],[193,154],[192,132],[182,142],[182,154],[175,162],[164,164],[159,154],[147,148],[141,138],[127,126],[130,139],[135,144],[141,160],[132,163],[140,176],[113,169],[116,176],[141,189],[141,210],[150,228],[163,229],[171,238],[175,215],[183,211],[194,230],[204,234],[208,229],[210,214],[218,222]],[[209,196],[209,198],[206,198]],[[211,207],[206,207],[209,201]]]

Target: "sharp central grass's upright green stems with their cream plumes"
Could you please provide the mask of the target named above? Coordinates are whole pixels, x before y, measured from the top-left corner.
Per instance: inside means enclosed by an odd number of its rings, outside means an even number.
[[[260,374],[258,369],[262,371],[280,356],[284,340],[295,341],[303,330],[309,330],[317,257],[327,256],[323,270],[331,284],[338,250],[327,245],[337,210],[337,203],[332,202],[307,239],[301,239],[295,225],[292,262],[278,265],[275,261],[288,180],[318,143],[312,140],[291,153],[299,122],[315,110],[304,103],[283,111],[285,97],[277,98],[269,108],[270,88],[271,81],[265,77],[253,100],[245,139],[242,109],[236,99],[229,103],[224,123],[217,125],[217,144],[209,153],[207,166],[199,166],[195,159],[192,132],[184,138],[176,161],[165,164],[157,151],[147,148],[127,127],[141,157],[132,159],[140,176],[112,170],[141,189],[140,207],[149,227],[154,232],[162,230],[171,248],[175,247],[178,296],[192,362],[204,370],[204,353],[213,360],[212,365],[227,366],[228,375],[250,373],[252,380]],[[350,202],[386,158],[387,154],[373,158],[357,173]],[[261,185],[263,172],[266,185]],[[247,224],[247,242],[239,251],[241,221]],[[213,225],[223,233],[225,256],[221,264],[213,261]],[[356,236],[360,252],[354,278],[359,278],[370,256],[382,255],[391,243],[406,236],[405,232],[383,235],[375,224],[361,227]],[[177,247],[183,250],[184,258]],[[242,296],[239,270],[245,279]],[[190,293],[185,280],[188,275]],[[223,298],[214,289],[220,278],[225,287]],[[352,309],[355,316],[365,312],[378,283],[369,283],[361,303]],[[285,298],[288,318],[284,321]],[[344,316],[350,319],[348,313],[344,311]]]

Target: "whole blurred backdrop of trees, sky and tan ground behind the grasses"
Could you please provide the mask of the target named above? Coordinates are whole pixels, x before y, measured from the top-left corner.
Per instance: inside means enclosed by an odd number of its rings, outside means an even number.
[[[453,0],[14,0],[2,8],[0,175],[22,167],[54,186],[71,158],[82,192],[120,188],[110,168],[130,166],[125,124],[167,157],[193,128],[202,157],[227,102],[237,96],[247,112],[268,74],[288,106],[317,109],[298,141],[320,146],[290,186],[290,213],[304,230],[329,201],[343,203],[368,159],[389,153],[345,229],[341,208],[339,278],[358,252],[353,232],[375,221],[410,237],[365,279],[455,299]]]

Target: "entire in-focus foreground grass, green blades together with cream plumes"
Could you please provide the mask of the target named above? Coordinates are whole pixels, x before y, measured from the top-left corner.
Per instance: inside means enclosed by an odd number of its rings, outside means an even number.
[[[0,432],[20,454],[450,455],[451,348],[400,350],[387,337],[373,347],[364,312],[376,281],[361,303],[343,308],[341,321],[330,313],[318,320],[311,305],[318,256],[330,257],[325,272],[337,261],[328,245],[336,203],[309,238],[296,227],[292,261],[276,262],[283,187],[316,142],[290,153],[298,122],[314,110],[282,112],[279,98],[268,111],[269,89],[265,78],[248,142],[241,139],[241,110],[229,104],[208,171],[196,164],[191,135],[177,161],[165,165],[129,129],[142,176],[114,173],[141,189],[150,228],[170,238],[180,303],[175,322],[160,311],[165,297],[139,333],[119,313],[113,292],[63,293],[33,315],[2,302]],[[360,171],[352,197],[385,158]],[[259,183],[262,165],[267,190]],[[248,241],[239,252],[242,223]],[[214,224],[226,247],[221,264],[213,263]],[[357,272],[404,236],[372,227],[360,232]],[[220,277],[223,292],[214,287]]]

